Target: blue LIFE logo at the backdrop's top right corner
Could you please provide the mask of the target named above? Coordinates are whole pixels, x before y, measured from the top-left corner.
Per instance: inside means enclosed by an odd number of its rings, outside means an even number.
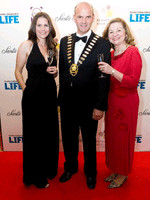
[[[146,11],[131,11],[130,22],[150,22],[150,12]]]

